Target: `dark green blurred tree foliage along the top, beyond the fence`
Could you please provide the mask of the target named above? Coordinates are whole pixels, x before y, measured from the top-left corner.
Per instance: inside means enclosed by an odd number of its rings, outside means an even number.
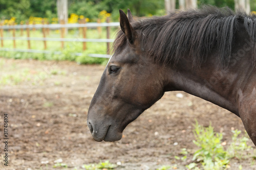
[[[217,7],[228,6],[234,9],[233,0],[199,0],[198,7],[208,4]],[[178,8],[179,2],[176,1]],[[256,11],[256,0],[250,1],[251,11]],[[98,14],[102,10],[112,13],[112,19],[117,21],[119,9],[130,8],[135,16],[164,15],[164,1],[157,0],[69,0],[69,15],[76,13],[96,21]],[[10,19],[16,17],[16,21],[28,20],[30,16],[52,18],[57,17],[56,1],[45,0],[0,0],[0,19]]]

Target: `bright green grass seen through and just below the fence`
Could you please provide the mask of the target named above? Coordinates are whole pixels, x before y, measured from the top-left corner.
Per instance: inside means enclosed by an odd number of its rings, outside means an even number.
[[[111,38],[114,38],[116,28],[111,29]],[[31,31],[30,37],[42,37],[40,30]],[[12,37],[12,31],[4,31],[4,37]],[[26,37],[26,32],[23,36],[20,36],[20,30],[16,31],[16,37]],[[50,31],[50,35],[47,37],[59,38],[58,31]],[[78,29],[69,30],[65,38],[82,38]],[[99,33],[96,29],[88,29],[87,38],[95,39],[99,38]],[[106,38],[106,30],[102,29],[102,36],[100,38]],[[44,50],[43,41],[30,41],[31,49]],[[0,51],[1,57],[13,58],[13,59],[36,59],[36,60],[69,60],[76,61],[79,64],[102,64],[106,63],[108,59],[88,57],[88,54],[106,54],[105,42],[87,42],[87,50],[82,50],[82,42],[64,42],[65,47],[61,48],[61,43],[56,41],[47,41],[47,51],[51,51],[51,54],[38,54],[38,53],[21,53],[21,52],[6,52]],[[4,40],[3,48],[13,48],[13,40]],[[28,49],[28,42],[23,40],[16,40],[16,48]],[[54,54],[55,51],[60,51],[62,54]],[[81,56],[76,56],[75,53],[82,53]],[[1,63],[0,63],[1,66]]]

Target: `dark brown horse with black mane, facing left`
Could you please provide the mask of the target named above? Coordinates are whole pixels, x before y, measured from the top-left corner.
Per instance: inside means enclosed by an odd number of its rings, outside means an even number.
[[[241,117],[256,144],[255,16],[204,7],[134,20],[120,10],[120,27],[88,111],[95,140],[120,140],[165,91],[182,90]]]

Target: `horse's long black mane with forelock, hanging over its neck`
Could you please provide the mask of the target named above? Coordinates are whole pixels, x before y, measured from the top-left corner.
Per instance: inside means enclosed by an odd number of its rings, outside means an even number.
[[[140,34],[141,44],[157,61],[177,63],[184,55],[200,65],[212,50],[219,53],[222,64],[229,62],[234,34],[242,23],[253,41],[256,36],[256,18],[244,12],[234,13],[229,8],[202,7],[199,10],[174,11],[165,16],[138,18],[131,23]],[[113,51],[126,41],[121,30],[117,32]]]

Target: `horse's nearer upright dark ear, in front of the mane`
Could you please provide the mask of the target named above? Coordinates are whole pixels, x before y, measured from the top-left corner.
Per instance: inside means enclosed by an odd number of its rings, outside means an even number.
[[[136,31],[131,26],[129,19],[125,13],[120,9],[120,27],[123,33],[126,35],[127,39],[131,44],[134,43],[135,38],[137,37]]]

